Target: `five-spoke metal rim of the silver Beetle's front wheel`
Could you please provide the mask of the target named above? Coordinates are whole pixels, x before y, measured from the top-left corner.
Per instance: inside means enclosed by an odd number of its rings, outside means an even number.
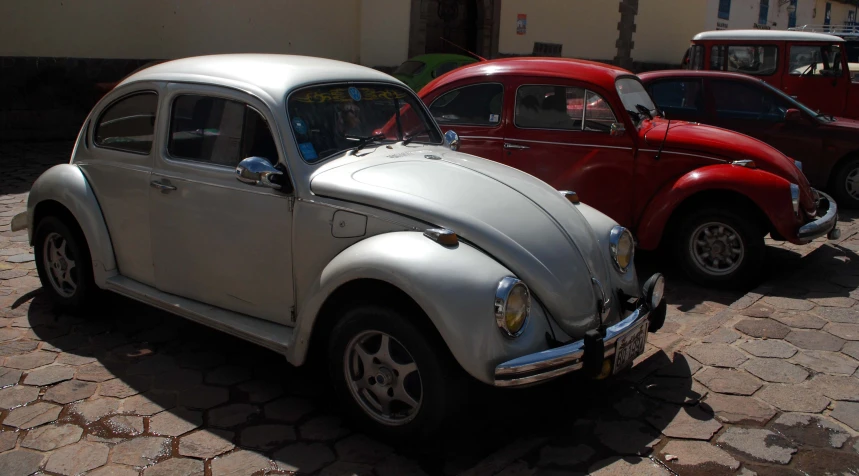
[[[346,346],[343,369],[352,397],[379,423],[399,426],[417,416],[423,395],[420,372],[395,338],[361,332]]]

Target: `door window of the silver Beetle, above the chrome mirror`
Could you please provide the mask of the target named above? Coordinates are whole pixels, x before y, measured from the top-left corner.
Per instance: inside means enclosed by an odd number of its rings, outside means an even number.
[[[277,148],[265,119],[252,107],[210,96],[179,96],[170,116],[170,155],[235,167],[247,157],[277,163]]]

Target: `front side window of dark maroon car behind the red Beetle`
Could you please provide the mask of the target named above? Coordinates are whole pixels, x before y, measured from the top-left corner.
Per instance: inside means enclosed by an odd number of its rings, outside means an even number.
[[[782,98],[751,84],[713,81],[710,87],[719,119],[780,122],[790,107]]]

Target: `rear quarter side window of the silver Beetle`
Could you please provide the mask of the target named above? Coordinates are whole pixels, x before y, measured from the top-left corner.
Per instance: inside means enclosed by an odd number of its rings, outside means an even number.
[[[95,144],[136,154],[152,150],[158,95],[152,92],[126,96],[105,109],[95,128]]]

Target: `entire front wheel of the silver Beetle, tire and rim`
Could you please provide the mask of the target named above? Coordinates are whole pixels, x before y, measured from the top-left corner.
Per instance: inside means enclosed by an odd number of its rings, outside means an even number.
[[[328,365],[349,415],[385,438],[431,436],[449,413],[456,371],[403,313],[360,305],[331,331]]]

